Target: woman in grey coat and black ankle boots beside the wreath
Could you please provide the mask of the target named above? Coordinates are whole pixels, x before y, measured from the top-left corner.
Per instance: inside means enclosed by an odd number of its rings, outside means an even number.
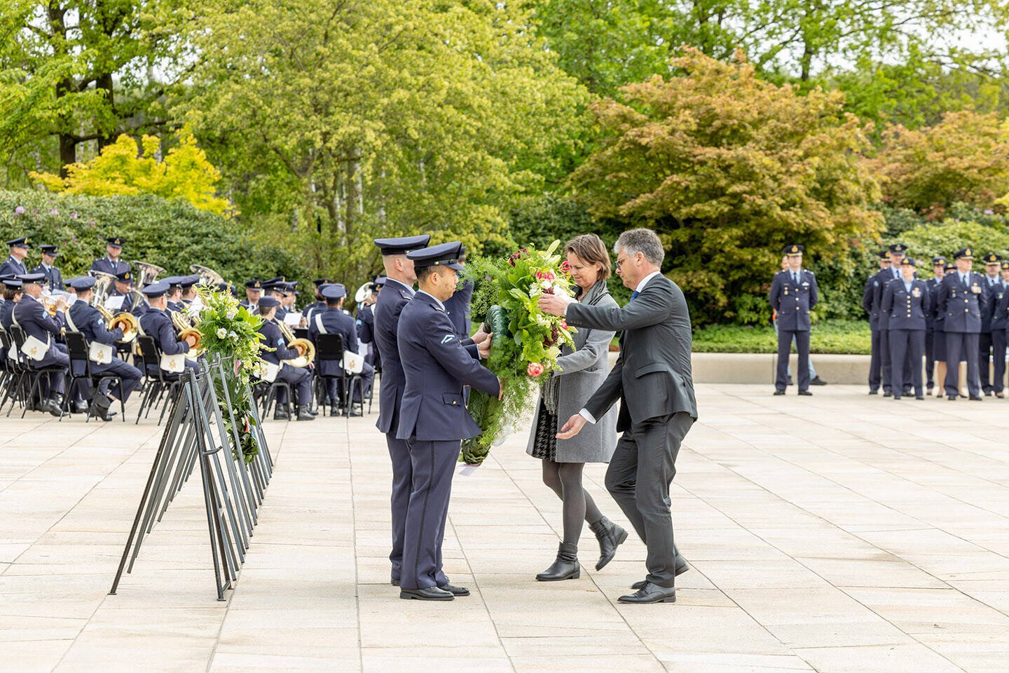
[[[609,254],[595,234],[575,236],[564,246],[571,277],[578,286],[577,300],[590,306],[616,308],[606,290],[609,277]],[[543,461],[543,482],[561,498],[564,541],[557,560],[536,576],[540,581],[575,579],[581,575],[578,564],[578,538],[582,522],[599,541],[599,560],[595,569],[609,563],[616,547],[628,534],[602,516],[581,484],[585,463],[607,463],[616,447],[616,412],[609,411],[598,423],[586,426],[571,439],[557,439],[557,419],[577,414],[585,401],[599,387],[608,369],[607,353],[613,332],[579,329],[574,335],[575,348],[565,346],[557,359],[560,370],[554,372],[540,390],[536,418],[527,452]]]

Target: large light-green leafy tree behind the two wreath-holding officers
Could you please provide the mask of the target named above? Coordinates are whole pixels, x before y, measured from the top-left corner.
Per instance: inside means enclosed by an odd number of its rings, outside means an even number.
[[[479,251],[557,173],[583,90],[513,3],[376,0],[208,5],[198,124],[242,212],[350,282],[370,239],[429,231]]]

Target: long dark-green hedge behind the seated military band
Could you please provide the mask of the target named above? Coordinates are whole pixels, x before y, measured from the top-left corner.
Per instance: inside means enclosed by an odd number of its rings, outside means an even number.
[[[304,288],[309,279],[296,255],[253,241],[239,221],[152,195],[0,191],[0,245],[20,236],[34,246],[25,260],[29,269],[38,263],[39,244],[59,245],[64,277],[87,271],[93,259],[105,255],[105,239],[122,236],[124,260],[157,264],[169,274],[190,273],[190,264],[203,264],[235,284],[285,275]]]

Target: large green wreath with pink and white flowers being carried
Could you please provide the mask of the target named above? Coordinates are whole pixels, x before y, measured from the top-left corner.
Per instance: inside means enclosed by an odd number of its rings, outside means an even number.
[[[469,412],[483,433],[463,442],[463,462],[480,464],[514,432],[542,377],[557,369],[561,346],[574,346],[574,328],[538,305],[543,294],[574,294],[567,264],[555,254],[558,246],[556,240],[546,250],[521,248],[503,259],[469,261],[475,292],[494,304],[483,317],[494,335],[487,367],[504,381],[504,395],[498,401],[471,391]]]

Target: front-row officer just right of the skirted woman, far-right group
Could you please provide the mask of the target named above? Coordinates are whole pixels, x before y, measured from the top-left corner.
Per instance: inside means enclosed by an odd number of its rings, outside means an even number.
[[[980,402],[981,376],[978,372],[978,338],[981,334],[981,316],[988,306],[985,279],[971,270],[974,254],[971,248],[957,252],[957,270],[947,273],[939,286],[936,302],[943,316],[942,328],[946,337],[946,398],[956,400],[960,394],[960,359],[967,359],[967,388],[971,400]]]

